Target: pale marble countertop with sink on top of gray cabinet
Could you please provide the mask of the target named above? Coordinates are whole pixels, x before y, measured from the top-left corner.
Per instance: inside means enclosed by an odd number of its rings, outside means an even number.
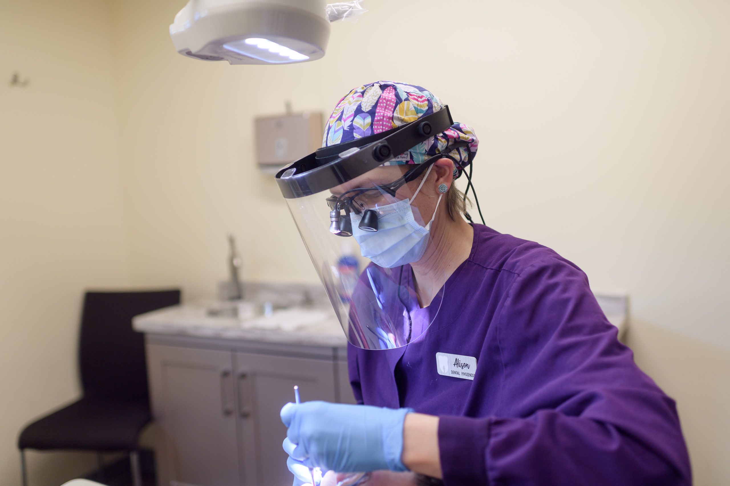
[[[237,308],[237,312],[230,312],[236,306],[212,299],[201,300],[137,315],[132,325],[135,331],[147,334],[293,345],[347,345],[345,333],[331,307],[269,309],[266,315],[257,315],[250,312],[246,303]],[[245,317],[239,318],[235,314]]]

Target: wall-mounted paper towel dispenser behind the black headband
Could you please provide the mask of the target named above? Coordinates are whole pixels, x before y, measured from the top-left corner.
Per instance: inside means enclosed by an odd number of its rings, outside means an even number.
[[[323,122],[319,111],[304,111],[254,120],[256,162],[264,173],[311,154],[322,145]]]

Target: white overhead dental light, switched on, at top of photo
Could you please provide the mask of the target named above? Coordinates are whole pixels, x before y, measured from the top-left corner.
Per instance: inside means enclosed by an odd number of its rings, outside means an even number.
[[[170,26],[189,58],[231,64],[303,63],[323,57],[329,23],[356,19],[359,1],[189,0]]]

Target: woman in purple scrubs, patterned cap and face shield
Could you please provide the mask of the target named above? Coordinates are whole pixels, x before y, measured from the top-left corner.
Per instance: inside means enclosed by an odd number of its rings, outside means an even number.
[[[295,484],[314,466],[401,471],[380,483],[691,484],[675,402],[618,342],[585,273],[470,222],[454,181],[472,170],[472,128],[423,87],[382,81],[342,98],[323,145],[277,182],[350,342],[360,404],[285,405]]]

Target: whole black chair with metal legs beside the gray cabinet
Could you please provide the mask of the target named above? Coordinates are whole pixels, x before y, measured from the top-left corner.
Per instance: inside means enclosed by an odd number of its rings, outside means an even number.
[[[79,346],[83,396],[20,432],[23,486],[26,449],[96,451],[100,468],[101,452],[126,451],[134,486],[142,486],[137,439],[152,415],[145,338],[131,320],[179,303],[180,290],[86,293]]]

